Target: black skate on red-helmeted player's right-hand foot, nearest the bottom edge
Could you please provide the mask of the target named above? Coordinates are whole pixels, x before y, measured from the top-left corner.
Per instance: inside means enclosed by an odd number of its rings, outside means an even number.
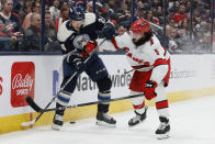
[[[159,117],[160,125],[156,130],[156,136],[158,140],[168,139],[170,137],[170,124],[169,119],[166,117]]]

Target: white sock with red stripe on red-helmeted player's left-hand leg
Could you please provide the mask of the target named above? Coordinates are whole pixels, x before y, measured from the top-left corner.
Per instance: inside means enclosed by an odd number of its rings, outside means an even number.
[[[137,91],[131,91],[131,96],[134,95],[139,95],[142,92],[137,92]],[[131,99],[133,107],[136,111],[138,111],[138,113],[143,113],[142,109],[145,107],[145,100],[144,100],[144,96],[143,97],[136,97],[136,98],[132,98]]]

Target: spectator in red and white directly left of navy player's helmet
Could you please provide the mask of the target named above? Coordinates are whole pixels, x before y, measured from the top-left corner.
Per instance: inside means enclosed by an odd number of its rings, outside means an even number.
[[[60,24],[63,24],[65,21],[69,19],[69,5],[63,4],[60,9],[60,18],[56,21],[56,31],[58,32],[58,27]]]

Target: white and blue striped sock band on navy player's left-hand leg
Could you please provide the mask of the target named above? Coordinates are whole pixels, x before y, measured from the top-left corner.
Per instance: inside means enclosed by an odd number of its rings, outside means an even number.
[[[67,91],[60,91],[59,95],[57,96],[57,103],[61,106],[68,106],[70,97],[71,97],[71,93]]]

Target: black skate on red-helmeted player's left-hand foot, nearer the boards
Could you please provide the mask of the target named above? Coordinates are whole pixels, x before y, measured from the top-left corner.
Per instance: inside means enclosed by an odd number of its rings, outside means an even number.
[[[140,122],[144,122],[144,120],[146,120],[146,117],[147,117],[147,109],[148,107],[146,106],[145,112],[143,114],[139,114],[135,111],[136,115],[128,121],[128,125],[134,126],[134,125],[139,124]]]

